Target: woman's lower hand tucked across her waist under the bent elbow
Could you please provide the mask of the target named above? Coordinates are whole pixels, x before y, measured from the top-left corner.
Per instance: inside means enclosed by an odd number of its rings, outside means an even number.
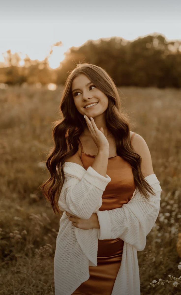
[[[91,217],[89,219],[81,219],[79,217],[76,217],[69,212],[66,211],[65,213],[67,216],[69,216],[69,220],[72,221],[72,224],[80,228],[82,230],[90,230],[91,228],[100,228],[99,221],[96,213],[92,213]]]

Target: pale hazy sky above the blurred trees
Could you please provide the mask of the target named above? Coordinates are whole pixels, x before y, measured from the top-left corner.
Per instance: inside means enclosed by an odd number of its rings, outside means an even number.
[[[0,11],[0,62],[8,49],[33,60],[52,49],[49,64],[56,68],[70,47],[113,36],[135,40],[157,33],[181,41],[180,0],[0,0]]]

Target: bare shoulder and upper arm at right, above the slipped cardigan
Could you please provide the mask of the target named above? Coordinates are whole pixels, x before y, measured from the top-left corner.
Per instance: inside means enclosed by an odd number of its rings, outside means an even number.
[[[154,174],[151,154],[144,138],[136,133],[131,141],[135,153],[141,156],[141,172],[144,177]]]

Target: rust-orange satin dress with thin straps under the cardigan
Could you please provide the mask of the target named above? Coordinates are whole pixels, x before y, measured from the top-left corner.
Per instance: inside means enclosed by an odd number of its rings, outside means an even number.
[[[135,132],[131,140],[134,135]],[[82,144],[81,150],[81,160],[87,170],[95,156],[84,153]],[[131,165],[120,156],[109,158],[106,174],[111,181],[102,194],[101,211],[122,207],[128,203],[136,189]],[[89,266],[89,279],[81,283],[72,295],[111,295],[121,265],[123,245],[124,241],[119,238],[98,240],[97,266]]]

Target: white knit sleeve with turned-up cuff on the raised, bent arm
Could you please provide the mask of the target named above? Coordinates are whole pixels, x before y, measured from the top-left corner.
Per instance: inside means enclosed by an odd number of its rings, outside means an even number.
[[[81,219],[89,219],[102,205],[102,194],[111,178],[102,176],[91,166],[85,170],[81,165],[65,162],[65,181],[58,206]]]

